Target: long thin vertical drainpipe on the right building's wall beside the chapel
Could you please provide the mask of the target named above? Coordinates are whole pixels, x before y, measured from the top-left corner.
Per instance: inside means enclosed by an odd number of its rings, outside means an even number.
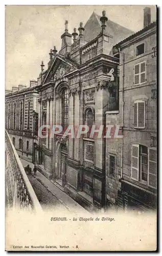
[[[119,53],[122,53],[122,66],[123,66],[123,72],[122,72],[122,134],[123,134],[123,125],[124,125],[124,52],[120,51]],[[122,148],[121,148],[121,178],[123,177],[123,139],[122,139]]]

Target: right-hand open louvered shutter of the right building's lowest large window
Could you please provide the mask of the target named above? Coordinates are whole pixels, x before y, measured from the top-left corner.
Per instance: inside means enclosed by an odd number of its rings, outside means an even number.
[[[157,179],[157,151],[155,147],[149,148],[148,157],[148,185],[156,188]]]

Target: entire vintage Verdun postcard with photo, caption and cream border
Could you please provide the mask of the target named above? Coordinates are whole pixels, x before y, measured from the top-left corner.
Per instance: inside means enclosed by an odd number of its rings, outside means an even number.
[[[5,249],[155,251],[156,6],[5,16]]]

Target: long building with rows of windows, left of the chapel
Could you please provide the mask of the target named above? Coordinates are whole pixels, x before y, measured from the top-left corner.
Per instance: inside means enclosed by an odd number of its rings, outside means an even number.
[[[29,162],[35,160],[35,146],[38,131],[37,81],[30,81],[30,87],[12,87],[5,91],[5,127],[20,158]]]

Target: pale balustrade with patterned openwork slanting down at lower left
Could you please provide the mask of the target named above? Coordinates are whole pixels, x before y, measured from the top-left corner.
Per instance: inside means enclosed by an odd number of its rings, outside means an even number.
[[[10,208],[42,211],[15,147],[5,131],[6,200]]]

